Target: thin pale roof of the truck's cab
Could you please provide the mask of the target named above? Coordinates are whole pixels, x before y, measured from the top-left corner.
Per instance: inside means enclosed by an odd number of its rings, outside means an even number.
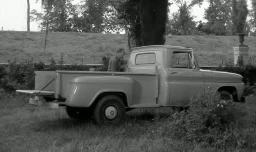
[[[150,46],[140,46],[140,47],[132,48],[132,52],[141,51],[147,48],[170,48],[175,50],[193,50],[192,48],[184,47],[184,46],[150,45]]]

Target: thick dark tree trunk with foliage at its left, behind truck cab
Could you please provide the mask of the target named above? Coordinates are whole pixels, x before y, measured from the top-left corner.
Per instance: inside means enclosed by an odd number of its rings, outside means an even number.
[[[168,0],[113,0],[112,6],[136,46],[164,44]]]

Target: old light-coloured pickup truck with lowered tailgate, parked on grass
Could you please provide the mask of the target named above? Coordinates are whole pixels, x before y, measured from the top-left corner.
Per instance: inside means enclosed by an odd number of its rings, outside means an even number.
[[[126,72],[37,71],[29,103],[66,106],[70,117],[93,117],[98,124],[116,124],[134,108],[183,107],[192,96],[220,94],[241,101],[239,74],[202,70],[194,50],[154,45],[133,48]]]

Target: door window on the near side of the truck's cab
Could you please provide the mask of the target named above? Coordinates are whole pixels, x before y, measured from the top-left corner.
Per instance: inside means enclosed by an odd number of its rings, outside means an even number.
[[[192,57],[189,52],[173,52],[170,68],[190,68],[192,69]]]

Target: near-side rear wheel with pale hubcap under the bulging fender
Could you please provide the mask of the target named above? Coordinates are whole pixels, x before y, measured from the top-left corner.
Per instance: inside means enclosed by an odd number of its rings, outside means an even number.
[[[96,104],[93,118],[97,124],[120,124],[125,118],[125,106],[123,100],[116,95],[104,96]]]

